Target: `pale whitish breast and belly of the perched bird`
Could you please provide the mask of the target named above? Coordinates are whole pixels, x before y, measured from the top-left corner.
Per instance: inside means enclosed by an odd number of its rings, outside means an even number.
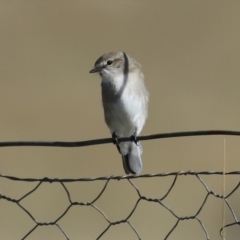
[[[135,75],[102,79],[102,102],[105,122],[118,136],[130,136],[142,130],[147,116],[147,101],[135,90]],[[131,80],[131,81],[130,81]]]

